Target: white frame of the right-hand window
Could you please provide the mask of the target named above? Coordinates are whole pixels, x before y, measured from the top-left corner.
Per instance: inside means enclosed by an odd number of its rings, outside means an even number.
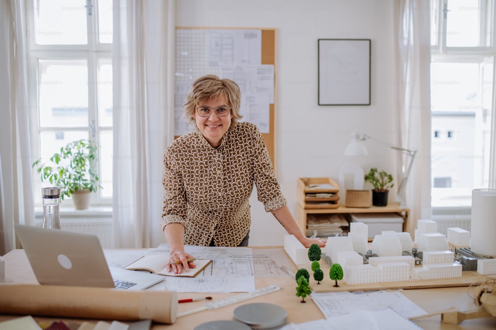
[[[434,45],[431,45],[431,55],[433,61],[451,61],[453,56],[457,56],[459,62],[474,62],[474,56],[493,56],[493,80],[496,80],[496,22],[495,22],[495,1],[494,0],[479,0],[479,6],[491,10],[490,19],[492,21],[491,28],[488,28],[486,21],[487,15],[481,19],[481,38],[490,34],[492,36],[490,45],[488,47],[447,47],[446,46],[446,22],[445,10],[447,8],[448,0],[431,0],[431,15],[437,14],[435,19],[431,18],[431,22],[435,22],[438,28],[435,36],[437,37]],[[435,8],[437,7],[437,11]],[[489,31],[491,30],[491,31]],[[463,60],[463,56],[466,59]],[[471,60],[472,57],[472,60]],[[490,160],[489,160],[489,183],[487,188],[496,188],[496,83],[493,82],[493,95],[492,95],[492,109],[491,109],[491,131],[493,132],[490,142]],[[453,207],[436,207],[433,205],[433,214],[469,214],[471,206],[453,206]]]

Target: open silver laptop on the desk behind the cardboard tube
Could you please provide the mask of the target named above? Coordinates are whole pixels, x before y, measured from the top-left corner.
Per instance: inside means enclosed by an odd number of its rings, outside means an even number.
[[[40,284],[142,290],[165,279],[148,272],[109,268],[95,235],[14,227]]]

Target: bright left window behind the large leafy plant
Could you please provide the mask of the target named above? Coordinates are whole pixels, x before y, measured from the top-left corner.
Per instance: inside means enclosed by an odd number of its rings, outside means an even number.
[[[96,141],[103,189],[93,202],[111,204],[112,0],[26,2],[33,158],[48,162],[70,141]]]

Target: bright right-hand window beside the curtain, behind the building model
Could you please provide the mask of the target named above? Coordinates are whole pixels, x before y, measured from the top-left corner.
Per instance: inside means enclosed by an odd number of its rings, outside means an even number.
[[[431,4],[432,206],[470,207],[495,187],[494,1]]]

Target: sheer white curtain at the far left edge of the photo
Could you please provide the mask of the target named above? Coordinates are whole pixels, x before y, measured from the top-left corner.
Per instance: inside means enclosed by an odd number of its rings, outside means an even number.
[[[16,247],[14,223],[34,224],[24,1],[0,1],[0,255]]]

